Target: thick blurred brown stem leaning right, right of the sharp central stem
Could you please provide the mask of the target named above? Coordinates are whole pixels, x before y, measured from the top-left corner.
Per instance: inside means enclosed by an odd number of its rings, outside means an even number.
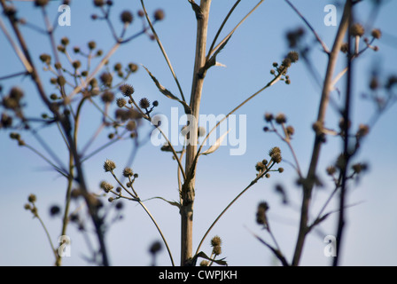
[[[344,37],[346,35],[346,30],[349,23],[351,5],[350,2],[347,1],[345,4],[342,20],[339,24],[339,29],[335,41],[333,43],[333,47],[331,53],[329,54],[329,61],[327,66],[327,71],[325,75],[325,80],[323,83],[323,91],[322,97],[320,100],[320,106],[317,116],[317,122],[323,125],[325,119],[325,113],[327,110],[328,102],[330,100],[330,93],[332,88],[332,76],[334,74],[334,70],[336,67],[337,59],[339,57],[340,47],[342,46]],[[309,169],[307,172],[307,178],[303,186],[303,197],[302,197],[302,205],[300,209],[300,229],[298,233],[298,239],[295,246],[295,251],[292,258],[292,265],[298,265],[300,263],[300,256],[303,250],[303,245],[307,235],[307,222],[308,222],[308,210],[311,201],[312,190],[315,184],[315,171],[317,168],[317,162],[320,155],[320,150],[322,147],[322,139],[321,136],[315,134],[315,146],[313,147],[313,153],[309,165]]]

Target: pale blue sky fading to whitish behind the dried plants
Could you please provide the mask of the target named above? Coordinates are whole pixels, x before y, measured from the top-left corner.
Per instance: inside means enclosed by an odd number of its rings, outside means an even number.
[[[141,22],[136,12],[141,8],[140,1],[113,1],[112,20],[117,30],[121,29],[120,12],[124,9],[134,12],[135,20],[128,29],[128,35],[140,30]],[[199,1],[198,1],[199,2]],[[378,53],[366,51],[360,59],[355,61],[357,72],[354,81],[354,105],[352,112],[354,130],[360,123],[369,121],[375,107],[368,101],[361,99],[361,94],[368,90],[370,72],[372,67],[380,66],[381,80],[388,75],[396,74],[397,62],[397,34],[395,27],[397,20],[396,1],[384,1],[378,17],[370,19],[373,10],[371,1],[363,1],[357,5],[359,9],[356,17],[364,25],[373,21],[373,26],[366,27],[367,34],[371,28],[381,28],[383,37],[375,44],[378,45]],[[49,4],[48,11],[53,19],[58,16],[58,4],[54,1]],[[331,44],[337,27],[327,27],[323,23],[326,12],[323,8],[326,4],[335,4],[332,1],[295,0],[292,1],[307,20],[315,27],[319,36],[331,48]],[[234,1],[213,1],[211,8],[208,38],[210,42],[221,25],[224,16],[229,12]],[[226,36],[232,28],[241,20],[257,1],[242,1],[233,12],[228,24],[223,29],[222,35]],[[43,27],[43,19],[37,9],[31,3],[18,3],[19,15],[29,22]],[[337,4],[338,22],[342,15],[342,7]],[[156,31],[160,36],[168,57],[171,60],[175,73],[182,85],[185,96],[191,91],[191,76],[195,47],[196,20],[191,5],[188,1],[146,1],[146,9],[150,14],[156,9],[162,8],[166,18],[156,24]],[[59,41],[63,36],[70,39],[70,48],[79,45],[86,50],[86,43],[95,40],[97,46],[108,51],[113,38],[105,21],[92,21],[90,15],[98,12],[93,8],[92,1],[72,1],[72,22],[70,27],[58,27],[56,38]],[[2,20],[6,19],[2,15]],[[9,27],[8,23],[6,25]],[[212,67],[205,79],[201,114],[227,114],[234,106],[237,106],[253,92],[271,80],[269,70],[274,61],[281,62],[285,54],[290,51],[285,40],[285,33],[291,29],[303,27],[303,22],[295,12],[284,2],[279,0],[266,0],[253,15],[237,29],[225,49],[217,58],[226,67]],[[46,36],[29,28],[22,28],[27,43],[32,49],[36,60],[36,66],[40,67],[38,56],[50,53],[50,43]],[[326,56],[321,52],[321,47],[315,43],[314,36],[307,32],[307,43],[310,43],[312,51],[310,59],[315,64],[315,69],[323,78]],[[209,45],[209,43],[208,43]],[[6,41],[4,33],[0,33],[0,76],[9,75],[22,70],[22,66],[11,45]],[[74,53],[71,51],[71,54]],[[345,64],[345,57],[340,54],[339,71],[341,64]],[[95,62],[95,61],[94,61]],[[167,69],[167,64],[161,55],[157,43],[147,36],[140,36],[136,40],[121,46],[111,59],[111,67],[116,62],[128,64],[135,62],[143,64],[151,70],[161,84],[168,90],[179,95],[172,75]],[[94,63],[95,65],[95,63]],[[43,73],[43,82],[46,91],[51,94],[54,87],[49,83],[51,75]],[[287,115],[288,122],[295,128],[292,145],[300,161],[303,172],[307,172],[310,160],[314,133],[311,125],[315,122],[317,107],[319,104],[320,90],[313,77],[307,72],[307,67],[300,60],[294,64],[289,75],[292,83],[286,85],[283,82],[264,91],[238,110],[237,114],[246,115],[246,152],[243,155],[230,155],[230,147],[222,146],[214,154],[201,156],[197,171],[196,201],[194,211],[194,239],[195,251],[201,237],[212,224],[215,217],[222,209],[240,193],[246,185],[249,185],[255,177],[255,164],[268,157],[269,149],[279,146],[285,160],[292,161],[292,155],[287,146],[272,133],[263,132],[266,125],[263,120],[265,112],[277,114],[283,112]],[[343,98],[343,80],[339,83]],[[152,79],[140,67],[138,72],[131,75],[128,82],[135,87],[136,99],[147,97],[151,101],[158,99],[160,106],[156,111],[170,115],[171,107],[178,106],[179,114],[183,114],[183,108],[177,102],[162,96],[153,84]],[[30,79],[20,77],[1,82],[4,93],[12,86],[19,85],[25,91],[24,102],[27,103],[27,115],[39,116],[42,114],[43,104],[33,87]],[[117,97],[121,96],[117,94]],[[337,102],[337,93],[332,94]],[[87,107],[87,113],[82,120],[81,139],[86,141],[99,125],[99,115],[92,107]],[[337,124],[335,109],[329,108],[328,117],[330,128]],[[343,242],[343,252],[340,258],[342,265],[396,265],[395,255],[397,246],[397,200],[395,170],[397,165],[397,135],[395,122],[397,112],[395,106],[382,115],[376,127],[370,130],[370,136],[365,139],[358,156],[354,162],[368,162],[370,170],[365,173],[358,183],[352,183],[347,197],[348,204],[358,205],[346,210],[346,231]],[[42,226],[32,214],[23,209],[27,202],[27,196],[35,193],[36,205],[44,223],[48,226],[51,239],[57,243],[61,231],[61,222],[58,217],[49,215],[51,205],[57,204],[63,209],[63,201],[66,193],[66,180],[59,177],[55,171],[51,171],[48,165],[27,148],[20,148],[15,141],[9,138],[9,130],[0,132],[0,264],[1,265],[52,265],[54,257],[51,248],[43,232]],[[91,150],[103,145],[107,141],[108,130],[96,141]],[[142,133],[147,133],[144,129]],[[22,132],[22,137],[27,143],[39,146],[35,138]],[[51,127],[40,131],[53,151],[66,163],[65,145],[55,128]],[[314,217],[321,208],[324,198],[331,193],[332,185],[325,174],[325,168],[335,161],[339,154],[341,140],[328,138],[323,146],[323,152],[318,167],[318,174],[323,179],[325,186],[315,190],[314,208],[311,216]],[[106,159],[113,160],[121,176],[122,169],[128,162],[128,157],[134,147],[130,140],[119,142],[112,147],[93,156],[84,162],[84,170],[88,184],[92,191],[97,192],[100,181],[110,183],[113,178],[103,170]],[[295,185],[296,173],[292,167],[283,162],[284,173],[272,173],[269,179],[261,179],[214,226],[201,250],[210,255],[209,241],[214,235],[222,238],[222,256],[230,265],[273,265],[274,257],[268,248],[264,247],[249,232],[259,234],[264,240],[271,243],[269,234],[261,230],[255,223],[255,213],[260,201],[269,202],[269,222],[284,255],[291,260],[293,248],[297,237],[299,223],[300,188]],[[176,181],[176,163],[169,153],[160,151],[159,147],[150,143],[141,146],[132,165],[133,170],[139,174],[136,180],[136,191],[143,200],[161,196],[167,200],[178,199]],[[285,207],[280,202],[280,196],[275,193],[275,185],[284,185],[291,207]],[[105,198],[105,205],[108,205]],[[150,218],[136,203],[124,201],[124,218],[121,222],[111,225],[106,233],[106,244],[110,261],[113,265],[148,265],[151,264],[151,256],[148,249],[152,241],[159,241],[160,235],[152,225]],[[161,230],[167,238],[172,250],[175,264],[179,264],[180,252],[180,217],[175,207],[164,201],[151,200],[145,202],[152,211],[152,215],[158,221]],[[73,204],[75,208],[76,204]],[[336,204],[331,203],[327,211],[337,209]],[[325,235],[336,234],[337,215],[333,215],[321,225],[321,231],[311,233],[307,238],[300,264],[302,265],[329,265],[331,258],[324,256],[323,248]],[[249,231],[248,231],[249,230]],[[72,240],[71,256],[63,260],[65,265],[86,265],[82,256],[87,256],[89,250],[74,225],[69,225],[67,234]],[[94,246],[97,245],[95,236],[90,235]],[[160,252],[158,263],[170,265],[166,249]]]

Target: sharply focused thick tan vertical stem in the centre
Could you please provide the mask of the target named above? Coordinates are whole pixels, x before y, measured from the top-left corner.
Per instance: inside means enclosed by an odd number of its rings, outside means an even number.
[[[197,39],[196,39],[196,57],[193,70],[193,83],[191,85],[191,119],[189,128],[189,141],[186,146],[186,179],[182,187],[182,209],[181,209],[181,265],[190,264],[193,250],[193,203],[194,203],[194,185],[195,185],[195,167],[194,158],[197,154],[197,135],[199,121],[199,106],[201,93],[203,90],[204,78],[199,76],[199,69],[206,63],[206,33],[208,28],[208,16],[211,0],[201,0],[200,17],[197,18]],[[196,15],[198,13],[196,12]]]

